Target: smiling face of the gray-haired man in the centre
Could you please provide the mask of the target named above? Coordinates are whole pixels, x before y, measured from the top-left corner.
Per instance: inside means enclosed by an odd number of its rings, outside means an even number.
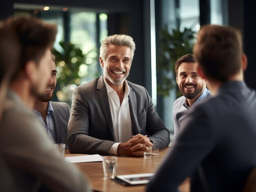
[[[106,58],[100,57],[100,63],[108,84],[121,85],[129,75],[131,50],[128,46],[109,45]]]

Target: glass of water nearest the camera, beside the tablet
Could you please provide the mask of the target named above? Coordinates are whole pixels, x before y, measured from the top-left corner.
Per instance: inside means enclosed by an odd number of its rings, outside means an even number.
[[[104,156],[103,157],[103,172],[104,178],[114,178],[117,171],[117,157],[116,156]]]

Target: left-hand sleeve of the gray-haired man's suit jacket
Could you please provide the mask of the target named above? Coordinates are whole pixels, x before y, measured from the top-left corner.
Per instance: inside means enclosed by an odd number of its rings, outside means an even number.
[[[115,142],[89,136],[90,118],[97,121],[97,117],[90,115],[86,96],[81,88],[75,88],[67,130],[69,150],[71,153],[108,155],[108,150]]]

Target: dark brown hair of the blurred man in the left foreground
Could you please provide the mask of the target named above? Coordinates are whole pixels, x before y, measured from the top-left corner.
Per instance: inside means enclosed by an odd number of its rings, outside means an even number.
[[[52,48],[57,28],[55,24],[47,24],[41,19],[31,17],[9,18],[8,23],[20,44],[19,64],[13,75],[15,79],[29,60],[37,64],[47,48]]]

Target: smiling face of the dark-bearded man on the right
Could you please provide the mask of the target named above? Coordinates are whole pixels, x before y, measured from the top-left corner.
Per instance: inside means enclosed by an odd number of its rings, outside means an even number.
[[[183,62],[177,71],[177,84],[187,99],[199,97],[206,87],[206,82],[198,75],[197,68],[197,63]]]

